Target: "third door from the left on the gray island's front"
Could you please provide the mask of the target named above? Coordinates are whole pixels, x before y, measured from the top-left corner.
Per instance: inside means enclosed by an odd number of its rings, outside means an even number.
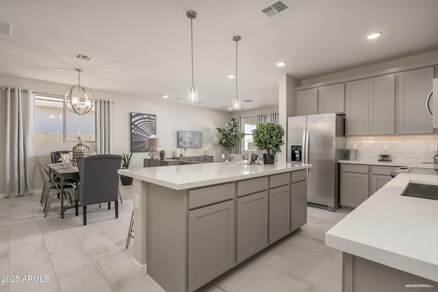
[[[269,190],[269,243],[290,233],[290,185]]]

